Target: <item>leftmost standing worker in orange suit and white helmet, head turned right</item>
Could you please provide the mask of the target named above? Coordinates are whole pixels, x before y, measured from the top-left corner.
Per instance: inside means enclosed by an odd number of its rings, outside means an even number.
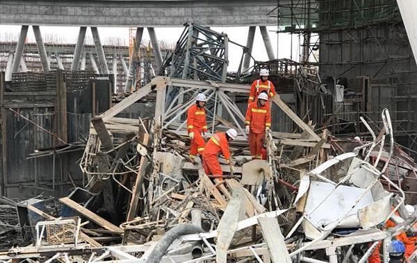
[[[202,155],[204,151],[205,139],[207,138],[207,122],[206,122],[206,95],[197,94],[195,104],[187,111],[188,136],[190,137],[190,160],[195,162],[197,154]]]

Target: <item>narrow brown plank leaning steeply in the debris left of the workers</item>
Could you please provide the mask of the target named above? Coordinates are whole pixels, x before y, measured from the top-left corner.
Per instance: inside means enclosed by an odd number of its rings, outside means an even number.
[[[145,145],[149,144],[148,133],[145,133],[143,135],[142,144],[145,144]],[[139,170],[138,170],[138,173],[136,174],[135,184],[133,185],[133,189],[132,189],[133,194],[132,194],[131,202],[129,205],[129,211],[127,212],[127,215],[126,215],[126,221],[132,221],[136,217],[136,214],[138,214],[139,195],[140,195],[140,190],[142,189],[143,177],[145,176],[145,170],[146,170],[145,163],[146,162],[147,162],[147,158],[142,156],[142,158],[140,158]]]

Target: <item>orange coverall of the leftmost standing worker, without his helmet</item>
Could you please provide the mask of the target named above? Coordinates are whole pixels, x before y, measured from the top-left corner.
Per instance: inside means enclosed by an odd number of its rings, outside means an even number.
[[[204,139],[202,131],[207,133],[206,110],[199,108],[197,104],[191,106],[187,111],[188,134],[194,133],[194,138],[190,145],[190,158],[195,158],[197,153],[200,155],[204,151]]]

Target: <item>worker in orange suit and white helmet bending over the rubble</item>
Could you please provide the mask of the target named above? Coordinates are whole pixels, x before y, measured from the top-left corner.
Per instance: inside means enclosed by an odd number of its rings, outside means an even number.
[[[231,161],[229,142],[236,139],[238,133],[235,129],[229,129],[226,133],[216,133],[207,142],[203,152],[203,168],[207,175],[218,176],[222,180],[223,171],[218,160],[219,153],[222,153],[224,159],[230,166],[233,173],[233,162]]]

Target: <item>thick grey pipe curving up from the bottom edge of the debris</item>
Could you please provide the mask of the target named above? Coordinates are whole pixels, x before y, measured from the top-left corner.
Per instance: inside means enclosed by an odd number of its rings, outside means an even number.
[[[200,232],[204,232],[202,228],[195,226],[191,223],[181,223],[174,228],[168,230],[162,239],[156,244],[154,250],[149,255],[146,260],[146,263],[159,263],[167,249],[170,247],[172,242],[177,239],[180,235],[188,235],[188,234],[197,234]]]

